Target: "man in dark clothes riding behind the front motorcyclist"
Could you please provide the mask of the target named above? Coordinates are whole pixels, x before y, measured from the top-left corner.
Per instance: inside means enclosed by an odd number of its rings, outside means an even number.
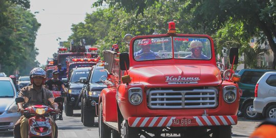
[[[45,87],[48,88],[49,90],[57,90],[57,91],[63,90],[64,93],[67,93],[67,89],[65,88],[64,83],[60,79],[58,79],[58,77],[59,77],[59,72],[53,71],[53,78],[45,82]],[[63,102],[58,103],[58,108],[60,110],[59,120],[63,120],[62,118]]]

